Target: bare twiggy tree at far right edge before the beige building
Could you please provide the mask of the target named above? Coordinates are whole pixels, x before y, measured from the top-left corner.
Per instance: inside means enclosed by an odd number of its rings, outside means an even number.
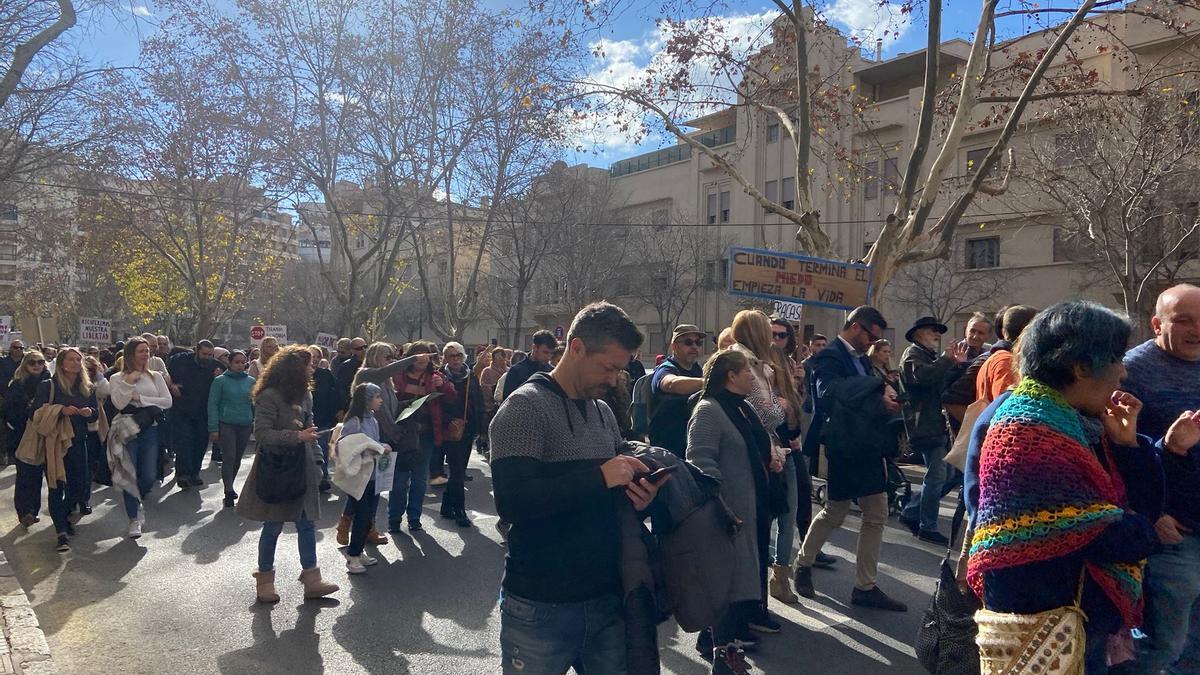
[[[1135,98],[1057,106],[1012,195],[1045,209],[1058,225],[1057,257],[1117,288],[1142,329],[1157,294],[1200,271],[1200,78],[1166,71]]]

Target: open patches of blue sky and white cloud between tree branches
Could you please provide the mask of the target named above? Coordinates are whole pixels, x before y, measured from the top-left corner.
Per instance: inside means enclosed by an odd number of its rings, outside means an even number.
[[[122,4],[110,12],[85,18],[72,31],[72,40],[79,52],[96,65],[136,65],[139,41],[151,35],[157,25],[161,14],[151,0],[121,1]],[[227,4],[223,0],[216,1],[218,5]],[[491,6],[504,6],[504,0],[485,0],[485,2]],[[613,80],[629,77],[644,67],[661,48],[661,35],[655,29],[653,13],[659,4],[647,1],[644,10],[634,2],[626,5],[629,6],[626,11],[590,38],[604,40],[607,54],[605,59],[594,60],[592,67],[594,77]],[[1016,0],[1003,0],[1000,11],[1010,6],[1015,8],[1015,5]],[[888,31],[884,36],[884,58],[924,48],[924,5],[918,6],[911,17],[904,17],[899,12],[898,4],[881,4],[880,0],[817,0],[816,6],[839,30],[847,35],[862,36],[864,43],[872,48],[875,37],[882,35],[884,30]],[[978,0],[973,2],[949,0],[943,10],[942,38],[970,40],[978,13]],[[757,26],[774,16],[774,5],[762,0],[745,2],[733,0],[721,10],[721,16],[734,30],[757,32],[760,30]],[[1009,19],[1009,22],[1001,25],[1002,38],[1040,28],[1037,22],[1028,19]],[[588,143],[588,151],[571,153],[565,159],[604,167],[616,160],[653,150],[670,142],[659,136],[635,145],[619,135],[607,133],[599,142]]]

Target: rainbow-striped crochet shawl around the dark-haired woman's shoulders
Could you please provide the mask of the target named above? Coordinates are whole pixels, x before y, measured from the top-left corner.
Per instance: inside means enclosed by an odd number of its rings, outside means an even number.
[[[1123,485],[1088,446],[1079,413],[1051,387],[1024,378],[1001,404],[979,455],[978,526],[967,562],[977,595],[984,573],[1072,555],[1122,518]],[[1086,566],[1126,626],[1139,626],[1142,565]]]

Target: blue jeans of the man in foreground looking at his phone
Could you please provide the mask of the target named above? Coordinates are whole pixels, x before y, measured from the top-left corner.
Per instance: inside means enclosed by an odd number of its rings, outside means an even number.
[[[620,597],[541,603],[500,591],[500,653],[504,675],[623,675]]]

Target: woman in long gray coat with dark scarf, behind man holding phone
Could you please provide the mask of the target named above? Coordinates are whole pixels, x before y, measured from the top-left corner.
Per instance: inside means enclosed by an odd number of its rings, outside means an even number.
[[[726,610],[712,627],[713,673],[749,673],[742,646],[745,626],[762,598],[760,539],[770,530],[770,438],[745,398],[755,386],[748,357],[718,352],[704,364],[700,402],[688,423],[688,460],[721,482],[721,496],[742,519],[734,537],[734,574]]]

